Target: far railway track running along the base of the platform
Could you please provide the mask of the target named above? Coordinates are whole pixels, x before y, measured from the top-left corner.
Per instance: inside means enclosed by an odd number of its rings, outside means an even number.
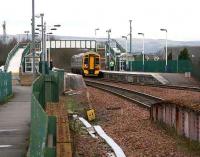
[[[139,85],[139,86],[149,86],[149,87],[158,87],[158,88],[167,88],[167,89],[188,90],[188,91],[193,91],[193,92],[200,92],[200,87],[192,87],[192,86],[131,83],[131,82],[122,82],[122,81],[114,81],[114,80],[107,80],[107,79],[98,79],[98,81],[113,82],[113,83],[124,83],[124,84],[130,84],[130,85]]]

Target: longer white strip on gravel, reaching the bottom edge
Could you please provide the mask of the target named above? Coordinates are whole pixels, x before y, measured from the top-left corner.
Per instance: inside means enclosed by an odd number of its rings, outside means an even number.
[[[103,138],[108,143],[108,145],[113,149],[117,157],[126,157],[120,146],[117,143],[115,143],[115,141],[111,137],[109,137],[99,125],[94,126],[94,129],[96,130],[97,134],[101,138]]]

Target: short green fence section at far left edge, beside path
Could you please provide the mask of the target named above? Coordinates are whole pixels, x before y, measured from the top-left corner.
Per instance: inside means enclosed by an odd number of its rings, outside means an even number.
[[[11,73],[0,72],[0,102],[12,95]]]

